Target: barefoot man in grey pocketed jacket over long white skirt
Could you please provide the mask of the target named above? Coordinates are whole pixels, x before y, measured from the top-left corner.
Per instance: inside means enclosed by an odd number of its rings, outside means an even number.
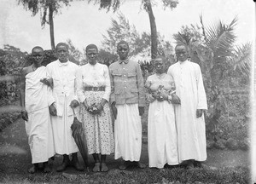
[[[142,149],[140,116],[143,115],[145,105],[143,74],[140,65],[128,58],[128,43],[119,42],[117,52],[119,60],[109,66],[110,101],[116,118],[114,122],[115,159],[125,160],[119,165],[121,170],[125,170],[131,162],[144,168],[145,165],[139,162]]]

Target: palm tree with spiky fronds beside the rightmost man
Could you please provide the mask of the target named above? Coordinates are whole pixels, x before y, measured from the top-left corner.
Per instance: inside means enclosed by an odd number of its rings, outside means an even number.
[[[177,43],[184,43],[189,47],[192,61],[201,66],[204,76],[208,99],[207,122],[209,129],[216,129],[222,110],[226,108],[224,96],[224,81],[231,73],[239,72],[240,76],[248,76],[251,68],[252,44],[245,43],[235,46],[234,33],[237,18],[230,24],[218,21],[212,26],[205,27],[201,20],[201,37],[195,39],[195,29],[183,29],[174,35]],[[185,31],[184,31],[185,30]],[[214,130],[212,131],[214,133]]]

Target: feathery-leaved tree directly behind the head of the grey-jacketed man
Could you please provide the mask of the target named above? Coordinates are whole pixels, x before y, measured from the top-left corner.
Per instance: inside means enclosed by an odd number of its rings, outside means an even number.
[[[106,57],[107,65],[111,64],[118,58],[116,55],[116,44],[120,40],[125,40],[130,46],[130,55],[133,60],[140,62],[144,76],[153,72],[153,66],[151,60],[147,60],[150,55],[150,40],[151,36],[143,32],[139,34],[134,25],[131,25],[128,20],[125,19],[124,14],[118,14],[118,20],[112,20],[112,26],[108,28],[107,35],[103,35],[102,46],[105,51],[100,50],[99,56]],[[157,55],[166,56],[166,67],[175,62],[172,54],[172,45],[165,40],[165,37],[158,33],[158,50]]]

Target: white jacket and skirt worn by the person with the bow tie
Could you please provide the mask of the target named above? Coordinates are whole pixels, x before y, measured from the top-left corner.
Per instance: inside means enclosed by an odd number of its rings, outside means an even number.
[[[78,152],[79,148],[73,139],[70,128],[73,124],[73,110],[69,105],[71,101],[78,99],[76,96],[76,72],[79,66],[70,61],[61,63],[59,60],[55,60],[46,68],[49,78],[53,78],[52,94],[57,110],[57,116],[51,116],[55,152],[58,154]]]

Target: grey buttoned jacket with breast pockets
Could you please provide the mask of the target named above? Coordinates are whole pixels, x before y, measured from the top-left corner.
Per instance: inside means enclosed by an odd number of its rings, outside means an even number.
[[[109,66],[111,103],[145,106],[143,74],[140,65],[132,60],[119,60]]]

